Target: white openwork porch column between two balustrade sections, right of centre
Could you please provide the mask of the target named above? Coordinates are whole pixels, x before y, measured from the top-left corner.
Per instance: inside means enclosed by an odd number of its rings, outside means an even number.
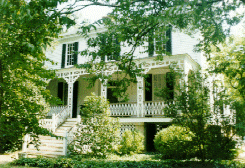
[[[144,78],[137,76],[137,117],[144,117],[144,104],[143,104],[143,98],[144,98]]]

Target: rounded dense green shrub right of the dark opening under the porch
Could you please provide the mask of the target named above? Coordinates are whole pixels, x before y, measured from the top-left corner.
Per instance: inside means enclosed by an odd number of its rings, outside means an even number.
[[[170,126],[156,134],[155,149],[164,159],[189,159],[194,154],[193,137],[194,134],[185,127]]]

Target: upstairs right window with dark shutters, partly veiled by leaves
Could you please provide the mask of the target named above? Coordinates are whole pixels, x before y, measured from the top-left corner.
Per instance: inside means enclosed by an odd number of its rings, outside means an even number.
[[[149,32],[149,37],[148,37],[149,57],[152,57],[154,54],[162,54],[166,52],[172,54],[171,38],[172,38],[171,27],[166,32],[159,33],[158,35],[156,35],[155,32],[153,31]]]

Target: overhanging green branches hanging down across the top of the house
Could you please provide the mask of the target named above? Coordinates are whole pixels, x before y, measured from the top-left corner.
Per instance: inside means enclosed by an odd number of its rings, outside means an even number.
[[[136,82],[136,76],[140,76],[143,71],[142,64],[133,61],[138,56],[135,51],[139,47],[143,50],[142,53],[148,53],[149,56],[153,56],[152,53],[156,50],[154,56],[157,56],[158,59],[171,55],[171,52],[163,47],[163,44],[169,40],[169,37],[163,34],[164,32],[167,34],[168,30],[173,28],[191,35],[201,34],[203,40],[196,46],[196,50],[210,54],[210,46],[217,46],[220,42],[225,41],[229,35],[230,26],[240,22],[243,15],[231,17],[229,13],[243,6],[244,2],[91,0],[86,5],[81,5],[72,11],[93,5],[111,7],[112,12],[94,24],[81,27],[82,34],[89,32],[92,28],[96,29],[97,24],[103,25],[107,31],[97,33],[97,37],[87,36],[88,48],[82,51],[81,55],[91,56],[92,59],[78,67],[86,68],[89,73],[94,74],[92,81],[95,81],[95,78],[118,81],[113,91],[118,97],[125,98],[127,97],[125,90],[130,82]],[[75,6],[76,4],[73,4],[73,7]],[[227,24],[226,28],[223,27],[224,23]],[[151,45],[154,43],[153,39],[160,39],[154,44],[155,49]],[[129,50],[121,51],[118,47],[120,44],[127,46]],[[119,74],[120,78],[112,79],[111,75],[105,73],[110,72],[113,65],[117,67],[117,76]]]

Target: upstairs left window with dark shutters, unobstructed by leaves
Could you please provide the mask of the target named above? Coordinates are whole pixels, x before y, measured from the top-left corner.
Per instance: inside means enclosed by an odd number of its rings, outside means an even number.
[[[61,68],[77,64],[78,42],[63,44]]]

